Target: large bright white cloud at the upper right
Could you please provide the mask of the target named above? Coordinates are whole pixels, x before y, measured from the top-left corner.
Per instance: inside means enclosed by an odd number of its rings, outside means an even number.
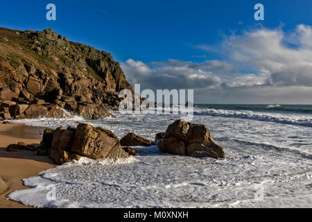
[[[295,44],[291,47],[289,44]],[[212,51],[214,47],[199,46]],[[300,24],[293,33],[261,28],[227,37],[220,44],[226,60],[245,69],[266,70],[268,83],[275,86],[312,87],[312,29]]]

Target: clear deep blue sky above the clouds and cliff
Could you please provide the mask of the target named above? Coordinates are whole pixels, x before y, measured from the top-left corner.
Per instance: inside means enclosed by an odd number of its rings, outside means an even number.
[[[55,3],[57,20],[46,20],[46,4]],[[265,20],[254,20],[255,3],[263,3]],[[25,30],[53,30],[98,49],[118,61],[202,61],[197,44],[214,44],[222,35],[261,24],[284,30],[312,21],[312,1],[3,1],[0,25]],[[241,23],[241,24],[239,24]]]

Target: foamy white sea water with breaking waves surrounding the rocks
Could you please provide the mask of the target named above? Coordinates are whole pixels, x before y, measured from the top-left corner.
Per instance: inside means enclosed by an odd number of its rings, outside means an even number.
[[[24,119],[31,126],[79,122],[133,132],[147,139],[164,132],[177,114],[120,114],[85,120]],[[225,160],[160,153],[134,147],[140,156],[119,162],[79,161],[26,178],[32,187],[11,200],[37,207],[311,207],[312,105],[196,105],[193,123],[204,123]],[[55,200],[46,194],[53,185]]]

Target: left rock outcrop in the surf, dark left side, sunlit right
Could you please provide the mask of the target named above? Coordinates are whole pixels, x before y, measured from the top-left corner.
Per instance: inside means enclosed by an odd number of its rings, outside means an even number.
[[[125,152],[118,137],[110,130],[94,128],[86,123],[79,123],[67,129],[46,129],[42,137],[38,154],[49,155],[57,164],[79,160],[81,156],[94,160],[110,158],[117,160],[135,155],[135,151]]]

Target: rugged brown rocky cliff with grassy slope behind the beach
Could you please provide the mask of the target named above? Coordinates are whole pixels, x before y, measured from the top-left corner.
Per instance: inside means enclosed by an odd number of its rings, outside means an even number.
[[[64,110],[97,119],[118,109],[121,89],[133,92],[110,53],[69,42],[50,28],[0,28],[2,119],[63,117]]]

